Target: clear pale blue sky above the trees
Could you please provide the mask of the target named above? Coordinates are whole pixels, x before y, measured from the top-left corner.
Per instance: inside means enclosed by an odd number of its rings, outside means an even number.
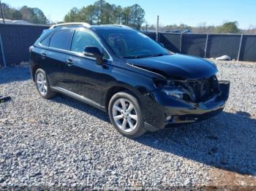
[[[93,4],[96,0],[1,0],[11,7],[23,5],[42,9],[45,16],[53,22],[61,21],[72,7],[81,8]],[[239,28],[256,26],[255,0],[106,0],[110,4],[127,7],[139,4],[145,12],[148,25],[187,24],[198,26],[221,25],[225,21],[238,21]]]

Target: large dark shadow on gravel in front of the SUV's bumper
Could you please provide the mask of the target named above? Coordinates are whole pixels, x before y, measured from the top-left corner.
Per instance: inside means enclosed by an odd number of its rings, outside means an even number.
[[[135,139],[154,149],[238,174],[256,175],[256,120],[246,112],[178,128],[146,133]]]

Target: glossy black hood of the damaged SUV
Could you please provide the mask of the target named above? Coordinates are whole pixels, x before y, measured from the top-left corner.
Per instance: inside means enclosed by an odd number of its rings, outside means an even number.
[[[141,69],[161,74],[166,78],[200,79],[211,77],[218,71],[217,67],[210,61],[181,54],[127,59],[127,62]]]

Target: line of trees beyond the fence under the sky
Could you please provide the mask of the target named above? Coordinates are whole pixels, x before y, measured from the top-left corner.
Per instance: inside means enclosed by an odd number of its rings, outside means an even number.
[[[15,9],[2,3],[2,8],[6,19],[26,20],[34,24],[53,24],[37,7],[23,6],[20,9]],[[104,0],[95,1],[94,4],[80,9],[73,7],[60,23],[62,22],[86,22],[96,25],[123,24],[142,31],[155,31],[156,28],[155,25],[148,26],[145,20],[145,11],[140,5],[121,7],[120,5],[109,4]],[[249,26],[247,30],[243,30],[238,28],[238,22],[233,21],[222,23],[219,26],[207,26],[206,23],[200,23],[198,26],[160,25],[159,31],[191,31],[199,34],[256,34],[256,26]]]

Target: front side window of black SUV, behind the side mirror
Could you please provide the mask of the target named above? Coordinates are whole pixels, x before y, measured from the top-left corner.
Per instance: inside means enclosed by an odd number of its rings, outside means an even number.
[[[75,31],[72,45],[71,45],[71,51],[73,52],[83,52],[85,47],[98,47],[100,51],[104,51],[102,48],[102,45],[99,44],[97,39],[92,34],[89,34],[86,31]],[[108,59],[109,55],[107,52],[103,52],[103,58]]]

